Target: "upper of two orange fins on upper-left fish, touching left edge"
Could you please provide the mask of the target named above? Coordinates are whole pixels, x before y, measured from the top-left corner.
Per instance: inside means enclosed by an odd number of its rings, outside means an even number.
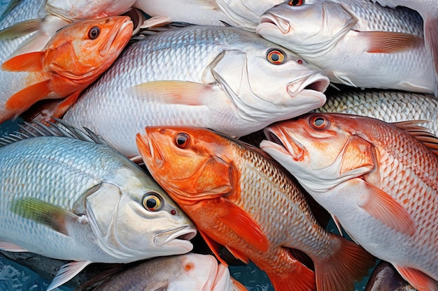
[[[43,60],[45,52],[29,52],[19,54],[16,57],[5,61],[1,68],[13,72],[36,72],[43,70]]]

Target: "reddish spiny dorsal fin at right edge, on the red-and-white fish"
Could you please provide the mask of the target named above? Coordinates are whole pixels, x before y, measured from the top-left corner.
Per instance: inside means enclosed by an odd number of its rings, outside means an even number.
[[[427,120],[409,120],[409,121],[400,121],[393,122],[394,126],[400,128],[406,133],[409,133],[412,137],[415,137],[416,140],[425,145],[432,153],[438,156],[438,137],[433,133],[430,133],[428,128],[420,126],[420,123],[427,123],[430,121]]]

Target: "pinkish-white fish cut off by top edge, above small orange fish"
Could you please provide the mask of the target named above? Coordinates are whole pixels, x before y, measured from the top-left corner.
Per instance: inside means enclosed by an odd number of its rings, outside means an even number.
[[[134,2],[135,0],[46,0],[45,10],[65,20],[98,19],[125,13]]]

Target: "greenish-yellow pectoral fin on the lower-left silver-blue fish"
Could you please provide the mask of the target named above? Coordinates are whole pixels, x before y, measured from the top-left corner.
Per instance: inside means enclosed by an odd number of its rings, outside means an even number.
[[[34,197],[15,198],[10,203],[10,211],[65,235],[69,235],[66,225],[87,219]]]

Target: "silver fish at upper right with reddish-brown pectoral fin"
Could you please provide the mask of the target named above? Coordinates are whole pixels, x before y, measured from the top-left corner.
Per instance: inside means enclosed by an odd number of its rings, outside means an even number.
[[[366,0],[286,1],[257,33],[299,54],[334,83],[432,94],[435,77],[421,16]]]

